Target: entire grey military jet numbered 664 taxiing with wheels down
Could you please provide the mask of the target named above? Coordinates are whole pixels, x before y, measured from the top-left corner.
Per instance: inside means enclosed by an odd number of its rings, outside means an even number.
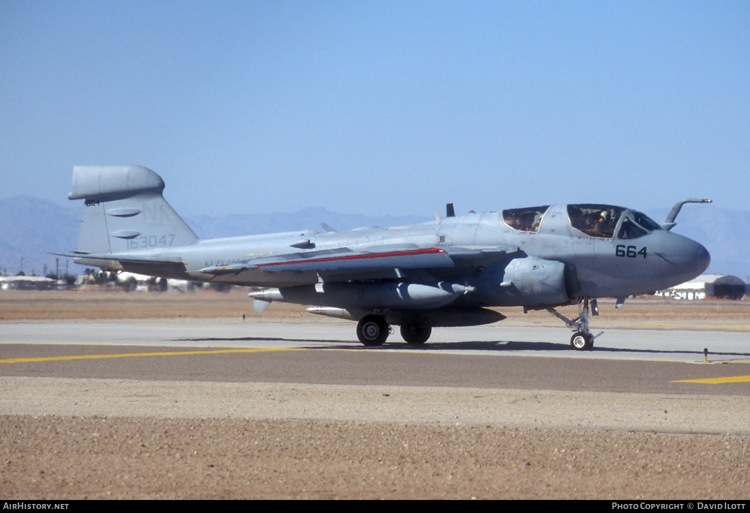
[[[487,307],[546,309],[589,350],[596,299],[652,293],[709,265],[697,242],[670,233],[685,202],[659,225],[613,205],[545,205],[446,217],[413,226],[301,230],[201,240],[162,196],[164,181],[141,166],[76,166],[70,199],[84,199],[76,263],[118,272],[270,287],[248,294],[255,311],[273,301],[315,305],[312,314],[358,321],[379,346],[401,326],[409,344],[432,329],[505,319]],[[439,216],[437,216],[439,217]],[[554,308],[578,304],[569,320]]]

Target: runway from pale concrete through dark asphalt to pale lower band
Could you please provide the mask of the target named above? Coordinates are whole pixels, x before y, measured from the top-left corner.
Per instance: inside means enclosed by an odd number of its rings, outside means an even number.
[[[354,342],[353,323],[3,323],[0,414],[332,419],[750,435],[742,332],[436,329]],[[703,362],[703,347],[709,349]]]

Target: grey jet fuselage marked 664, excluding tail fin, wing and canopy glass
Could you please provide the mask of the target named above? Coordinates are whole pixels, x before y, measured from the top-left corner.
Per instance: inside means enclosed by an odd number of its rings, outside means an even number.
[[[226,266],[278,255],[319,255],[324,251],[348,248],[351,251],[388,251],[389,248],[442,248],[449,255],[458,255],[455,266],[434,269],[373,270],[365,278],[371,280],[452,281],[475,287],[460,304],[472,306],[508,306],[528,304],[528,297],[514,293],[512,287],[501,287],[507,281],[508,263],[517,259],[541,259],[562,263],[575,270],[578,290],[575,296],[619,297],[652,293],[680,284],[700,274],[708,262],[703,246],[663,229],[654,230],[637,239],[592,237],[572,228],[565,212],[566,205],[552,205],[541,220],[538,231],[518,231],[503,223],[502,212],[466,214],[445,217],[413,226],[388,228],[365,227],[347,232],[317,233],[314,230],[244,236],[226,239],[198,240],[192,245],[170,248],[169,233],[155,233],[136,239],[136,244],[163,247],[128,251],[127,256],[150,257],[157,260],[179,260],[184,266],[151,266],[147,263],[123,263],[111,266],[131,272],[191,281],[236,284],[255,287],[293,287],[326,281],[337,276],[344,281],[347,272],[264,272],[246,269],[225,275],[200,272],[200,269]],[[625,218],[623,216],[623,218]],[[493,251],[486,251],[493,248]],[[494,251],[500,248],[502,251]],[[98,265],[101,260],[78,259],[85,265]],[[96,263],[98,262],[98,263]],[[547,262],[540,262],[544,264]],[[529,275],[534,269],[520,269]],[[362,279],[362,271],[356,273]],[[537,284],[544,288],[544,284]],[[546,287],[550,288],[550,287]],[[555,287],[551,287],[555,288]],[[541,292],[541,291],[539,291]],[[566,302],[562,300],[560,302]],[[557,303],[560,303],[557,302]]]

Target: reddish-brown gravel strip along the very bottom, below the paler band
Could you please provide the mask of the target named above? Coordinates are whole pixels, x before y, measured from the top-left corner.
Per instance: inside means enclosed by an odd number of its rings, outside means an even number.
[[[0,417],[4,499],[747,499],[747,437]]]

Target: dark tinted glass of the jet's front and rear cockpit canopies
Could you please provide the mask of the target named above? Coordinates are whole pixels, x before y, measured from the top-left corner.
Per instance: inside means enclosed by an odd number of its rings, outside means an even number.
[[[549,205],[502,211],[503,222],[519,232],[538,232]],[[661,226],[638,211],[614,205],[567,205],[570,225],[587,236],[601,239],[637,239]]]

